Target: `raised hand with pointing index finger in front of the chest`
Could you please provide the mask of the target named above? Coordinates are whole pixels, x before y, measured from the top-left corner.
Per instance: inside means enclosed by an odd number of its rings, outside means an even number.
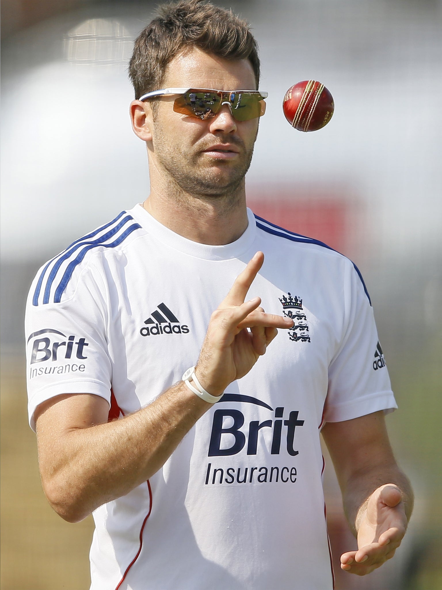
[[[210,317],[196,376],[212,395],[221,395],[229,383],[250,371],[278,333],[277,328],[293,326],[288,317],[265,313],[259,307],[259,297],[245,301],[263,261],[263,253],[257,252]]]

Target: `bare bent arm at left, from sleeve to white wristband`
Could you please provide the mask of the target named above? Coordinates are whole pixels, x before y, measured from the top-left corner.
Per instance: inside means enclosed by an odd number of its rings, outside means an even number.
[[[179,382],[134,414],[70,428],[52,439],[50,448],[39,445],[42,482],[52,507],[77,522],[127,494],[163,466],[209,407]],[[44,421],[38,426],[38,434],[50,427]]]

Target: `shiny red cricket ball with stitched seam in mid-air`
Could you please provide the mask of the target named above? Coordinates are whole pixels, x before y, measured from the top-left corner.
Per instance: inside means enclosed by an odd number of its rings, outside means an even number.
[[[282,101],[285,118],[298,131],[321,129],[331,119],[334,109],[332,95],[316,80],[293,84]]]

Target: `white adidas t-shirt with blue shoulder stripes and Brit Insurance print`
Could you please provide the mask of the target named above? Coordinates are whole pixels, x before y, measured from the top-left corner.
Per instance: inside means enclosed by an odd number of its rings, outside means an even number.
[[[55,395],[149,404],[197,361],[210,314],[256,251],[248,299],[293,317],[149,482],[94,512],[93,590],[332,588],[319,429],[396,407],[358,270],[248,210],[222,246],[140,205],[41,268],[27,306],[29,420]],[[112,394],[111,394],[112,392]],[[121,411],[121,413],[120,413]],[[141,540],[140,540],[141,539]]]

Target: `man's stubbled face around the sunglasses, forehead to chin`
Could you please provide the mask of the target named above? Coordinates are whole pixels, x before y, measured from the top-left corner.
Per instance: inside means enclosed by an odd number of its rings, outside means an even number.
[[[193,48],[171,61],[161,86],[256,90],[256,81],[248,60],[224,60]],[[174,99],[161,97],[150,115],[151,163],[190,194],[235,192],[250,166],[259,119],[236,121],[227,105],[212,119],[196,119],[175,113]]]

